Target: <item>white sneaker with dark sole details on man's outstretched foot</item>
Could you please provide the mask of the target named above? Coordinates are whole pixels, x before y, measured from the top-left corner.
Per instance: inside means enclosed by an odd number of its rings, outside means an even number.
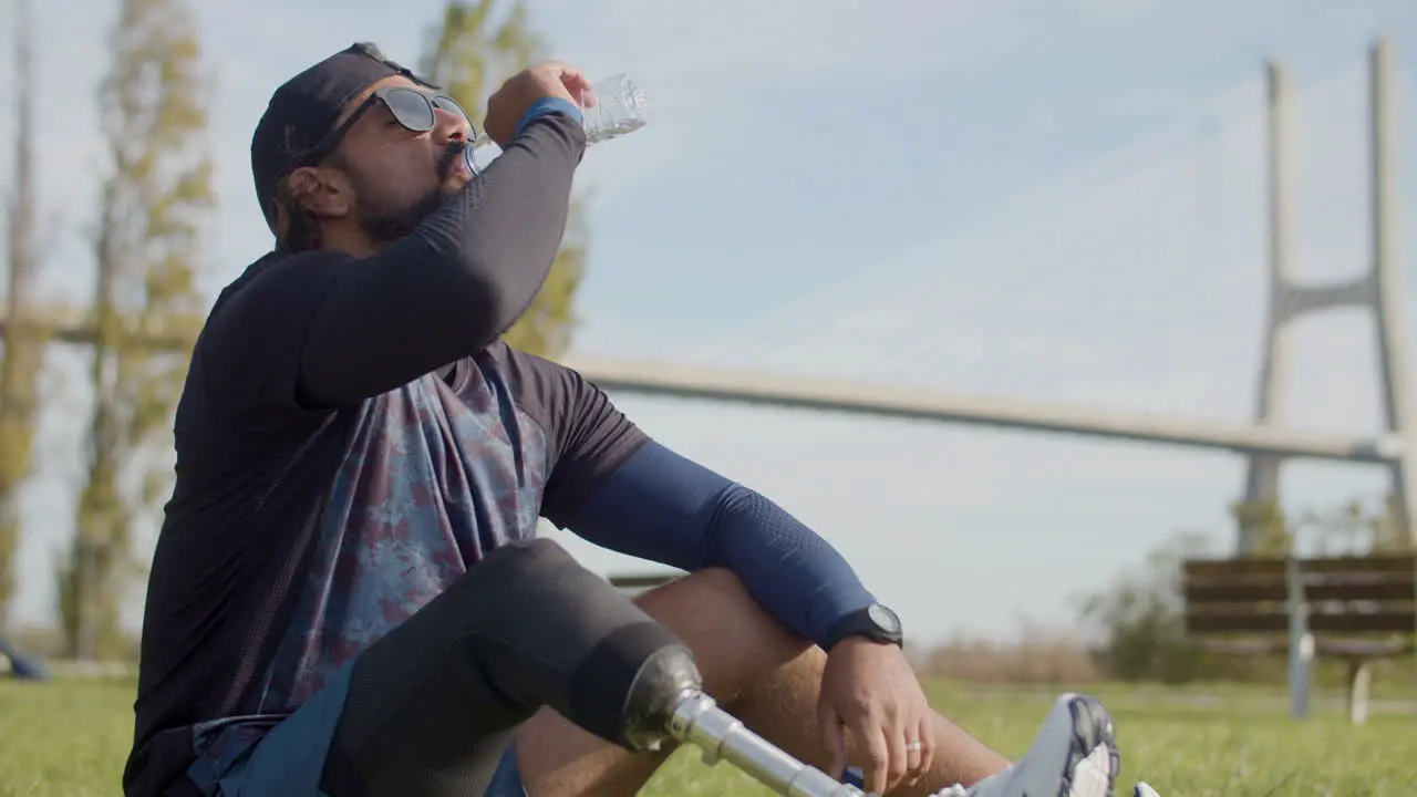
[[[1111,715],[1095,699],[1068,693],[1053,703],[1033,746],[1009,769],[935,797],[1111,797],[1118,763]],[[1138,788],[1135,797],[1153,796]]]

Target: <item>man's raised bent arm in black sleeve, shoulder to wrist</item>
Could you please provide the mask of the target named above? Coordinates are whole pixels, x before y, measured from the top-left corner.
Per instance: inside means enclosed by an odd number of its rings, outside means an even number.
[[[302,400],[377,396],[512,326],[561,247],[584,149],[578,113],[538,115],[411,235],[341,264],[306,328]]]

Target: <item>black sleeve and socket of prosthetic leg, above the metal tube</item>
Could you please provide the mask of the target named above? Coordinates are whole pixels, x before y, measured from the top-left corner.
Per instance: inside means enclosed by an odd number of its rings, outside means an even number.
[[[699,684],[669,630],[560,546],[509,545],[360,654],[322,788],[480,794],[543,705],[638,750]]]

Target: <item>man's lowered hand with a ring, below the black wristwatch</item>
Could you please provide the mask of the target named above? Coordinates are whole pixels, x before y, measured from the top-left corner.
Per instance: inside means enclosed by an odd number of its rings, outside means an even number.
[[[837,642],[826,657],[818,705],[833,777],[847,764],[846,733],[866,773],[866,791],[886,794],[930,770],[935,723],[905,654],[864,638]]]

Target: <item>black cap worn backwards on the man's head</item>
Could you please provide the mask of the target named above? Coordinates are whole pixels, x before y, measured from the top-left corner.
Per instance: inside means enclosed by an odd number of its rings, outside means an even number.
[[[281,179],[306,165],[302,160],[334,128],[354,96],[393,75],[429,85],[385,58],[374,44],[359,43],[290,78],[271,95],[251,138],[251,174],[261,213],[272,233],[276,231]]]

